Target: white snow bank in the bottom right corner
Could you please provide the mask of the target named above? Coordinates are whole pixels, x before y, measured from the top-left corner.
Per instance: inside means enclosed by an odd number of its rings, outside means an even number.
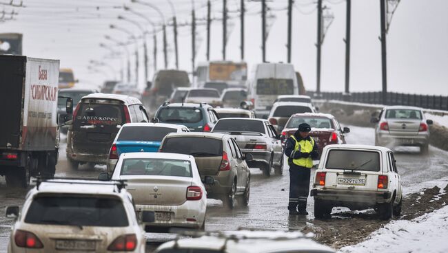
[[[391,221],[370,234],[367,241],[339,252],[448,252],[448,206],[411,221]]]

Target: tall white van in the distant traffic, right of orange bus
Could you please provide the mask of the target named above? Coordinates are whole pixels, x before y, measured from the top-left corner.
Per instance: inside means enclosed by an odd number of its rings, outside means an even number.
[[[254,104],[258,118],[266,118],[279,95],[298,95],[294,65],[287,63],[259,63],[247,80],[247,99]]]

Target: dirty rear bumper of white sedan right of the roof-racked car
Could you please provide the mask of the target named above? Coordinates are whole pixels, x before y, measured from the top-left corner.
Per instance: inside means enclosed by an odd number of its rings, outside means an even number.
[[[170,221],[154,221],[144,223],[145,227],[159,228],[201,228],[205,221],[205,210],[207,201],[204,199],[197,201],[185,201],[179,206],[156,206],[156,205],[135,205],[137,219],[142,220],[142,212],[170,212]],[[195,221],[187,221],[194,219]]]

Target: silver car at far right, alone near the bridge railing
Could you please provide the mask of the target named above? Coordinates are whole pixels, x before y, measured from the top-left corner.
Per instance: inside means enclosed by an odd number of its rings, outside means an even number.
[[[420,146],[421,153],[428,152],[429,125],[419,107],[384,107],[378,118],[371,118],[375,126],[376,146]]]

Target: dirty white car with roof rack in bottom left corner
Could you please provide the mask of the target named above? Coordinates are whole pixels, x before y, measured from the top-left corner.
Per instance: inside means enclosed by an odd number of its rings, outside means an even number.
[[[15,218],[8,252],[145,252],[145,233],[122,181],[37,181]],[[31,250],[31,251],[30,251]]]

